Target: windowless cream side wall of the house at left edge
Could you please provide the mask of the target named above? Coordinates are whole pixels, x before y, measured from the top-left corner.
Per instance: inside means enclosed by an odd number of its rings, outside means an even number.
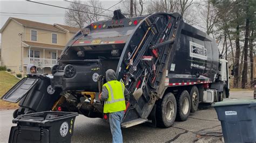
[[[10,20],[8,26],[2,32],[2,63],[16,73],[21,73],[21,36],[24,27]]]

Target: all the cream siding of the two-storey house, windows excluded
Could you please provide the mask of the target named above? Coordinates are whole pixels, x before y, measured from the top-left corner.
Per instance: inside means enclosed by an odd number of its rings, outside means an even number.
[[[66,43],[75,33],[63,31],[62,28],[58,30],[58,27],[50,30],[49,25],[44,27],[44,24],[40,24],[42,28],[36,28],[37,25],[30,27],[26,26],[28,23],[24,24],[22,22],[23,20],[21,19],[9,18],[8,22],[2,28],[2,61],[0,60],[2,66],[6,65],[7,68],[10,68],[16,74],[21,73],[24,76],[26,74],[26,65],[28,63],[34,63],[40,66],[40,73],[51,74],[51,67],[56,64],[56,59],[52,60],[52,52],[56,52],[58,58],[63,51],[61,48],[65,47]],[[46,30],[44,28],[48,29]],[[37,31],[37,41],[31,40],[31,30]],[[19,33],[22,33],[22,36],[18,35]],[[57,34],[57,44],[52,43],[52,33]],[[31,45],[30,49],[33,51],[40,51],[40,59],[29,59],[28,45]],[[36,45],[42,47],[37,47]]]

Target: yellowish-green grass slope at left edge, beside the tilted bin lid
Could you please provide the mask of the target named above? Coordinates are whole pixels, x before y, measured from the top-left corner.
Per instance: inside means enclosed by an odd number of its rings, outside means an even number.
[[[17,82],[18,78],[5,71],[0,71],[0,97],[2,97]],[[18,103],[10,103],[0,99],[0,109],[15,109]]]

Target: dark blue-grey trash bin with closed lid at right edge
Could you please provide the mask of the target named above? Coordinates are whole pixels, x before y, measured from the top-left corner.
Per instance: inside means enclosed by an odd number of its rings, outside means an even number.
[[[256,142],[256,100],[232,99],[212,106],[225,142]]]

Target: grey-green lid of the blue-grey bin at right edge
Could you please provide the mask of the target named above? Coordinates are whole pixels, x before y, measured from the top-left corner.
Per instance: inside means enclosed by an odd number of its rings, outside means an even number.
[[[213,103],[212,106],[230,106],[230,105],[246,105],[246,104],[256,104],[256,100],[231,99],[231,100]]]

